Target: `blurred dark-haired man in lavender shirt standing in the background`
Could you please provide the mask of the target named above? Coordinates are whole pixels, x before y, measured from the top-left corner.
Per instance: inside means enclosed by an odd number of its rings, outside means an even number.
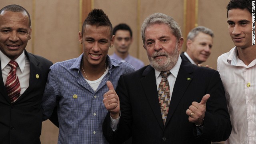
[[[114,47],[115,52],[110,56],[112,59],[128,62],[138,70],[144,66],[144,63],[138,58],[134,58],[128,52],[132,44],[132,30],[127,24],[118,24],[113,29],[115,35]]]

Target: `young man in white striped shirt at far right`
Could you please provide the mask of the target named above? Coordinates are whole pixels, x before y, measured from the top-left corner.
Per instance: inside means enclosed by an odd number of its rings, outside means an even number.
[[[217,70],[233,126],[227,144],[256,144],[256,46],[252,45],[252,2],[230,0],[228,3],[228,32],[235,47],[218,57]]]

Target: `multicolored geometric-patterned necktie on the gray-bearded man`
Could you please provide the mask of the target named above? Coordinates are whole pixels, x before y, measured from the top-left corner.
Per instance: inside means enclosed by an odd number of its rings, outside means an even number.
[[[170,105],[170,86],[169,86],[167,77],[169,76],[169,74],[171,74],[171,72],[170,71],[161,72],[160,74],[162,76],[162,80],[158,88],[158,99],[159,99],[163,122],[165,124],[168,110],[169,110],[169,105]]]

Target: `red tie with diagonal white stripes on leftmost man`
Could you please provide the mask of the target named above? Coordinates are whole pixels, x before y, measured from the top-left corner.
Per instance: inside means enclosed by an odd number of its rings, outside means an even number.
[[[16,76],[18,63],[15,60],[11,60],[8,65],[12,69],[7,76],[5,87],[10,101],[13,103],[20,97],[20,81]]]

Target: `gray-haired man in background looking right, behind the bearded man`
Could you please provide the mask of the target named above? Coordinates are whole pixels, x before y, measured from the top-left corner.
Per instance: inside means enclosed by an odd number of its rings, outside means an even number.
[[[187,49],[180,55],[191,64],[201,64],[209,58],[212,50],[212,30],[204,26],[192,29],[187,36]]]

